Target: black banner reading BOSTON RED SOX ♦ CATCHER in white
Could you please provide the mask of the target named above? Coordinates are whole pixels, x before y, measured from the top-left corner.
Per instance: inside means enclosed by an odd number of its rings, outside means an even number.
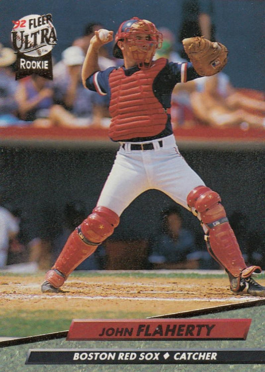
[[[265,364],[265,350],[30,349],[27,365]]]

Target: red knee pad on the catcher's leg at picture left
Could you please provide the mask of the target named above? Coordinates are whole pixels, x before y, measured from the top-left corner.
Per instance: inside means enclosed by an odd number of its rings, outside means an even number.
[[[113,234],[119,221],[119,216],[111,209],[97,206],[77,229],[79,236],[85,243],[98,245]]]

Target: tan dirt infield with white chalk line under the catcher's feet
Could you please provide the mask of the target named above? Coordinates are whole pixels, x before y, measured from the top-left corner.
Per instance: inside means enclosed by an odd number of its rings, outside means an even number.
[[[40,291],[44,273],[0,274],[0,316],[9,311],[68,311],[87,318],[139,318],[208,308],[259,297],[236,296],[219,275],[173,272],[97,272],[70,276],[57,294]],[[265,285],[264,275],[259,282]]]

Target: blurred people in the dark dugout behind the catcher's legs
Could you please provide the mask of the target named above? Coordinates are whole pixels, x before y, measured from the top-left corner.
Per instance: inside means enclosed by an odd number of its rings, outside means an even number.
[[[39,234],[34,234],[27,230],[26,216],[20,210],[12,208],[10,204],[1,203],[0,270],[17,272],[48,270],[57,259],[71,232],[87,215],[85,203],[73,200],[66,203],[62,213],[46,211],[47,223],[40,228]],[[222,270],[208,253],[202,233],[196,234],[189,228],[178,205],[169,206],[161,212],[160,217],[155,233],[147,235],[146,239],[137,240],[136,243],[134,239],[114,241],[107,239],[76,270],[106,270],[110,265],[111,270],[132,269],[130,267],[132,257],[135,252],[141,251],[143,243],[142,261],[133,262],[134,269]],[[245,262],[261,266],[265,270],[265,250],[261,234],[250,231],[248,217],[242,212],[233,212],[229,220]],[[128,245],[135,245],[134,249],[127,250]],[[122,262],[119,250],[126,251],[125,255],[123,253]]]

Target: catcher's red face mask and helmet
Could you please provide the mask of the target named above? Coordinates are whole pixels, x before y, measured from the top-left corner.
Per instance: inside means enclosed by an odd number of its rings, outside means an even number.
[[[124,21],[115,35],[115,45],[113,56],[123,58],[122,51],[118,46],[118,41],[125,41],[132,58],[140,66],[150,65],[156,49],[162,47],[163,36],[154,23],[133,17]]]

